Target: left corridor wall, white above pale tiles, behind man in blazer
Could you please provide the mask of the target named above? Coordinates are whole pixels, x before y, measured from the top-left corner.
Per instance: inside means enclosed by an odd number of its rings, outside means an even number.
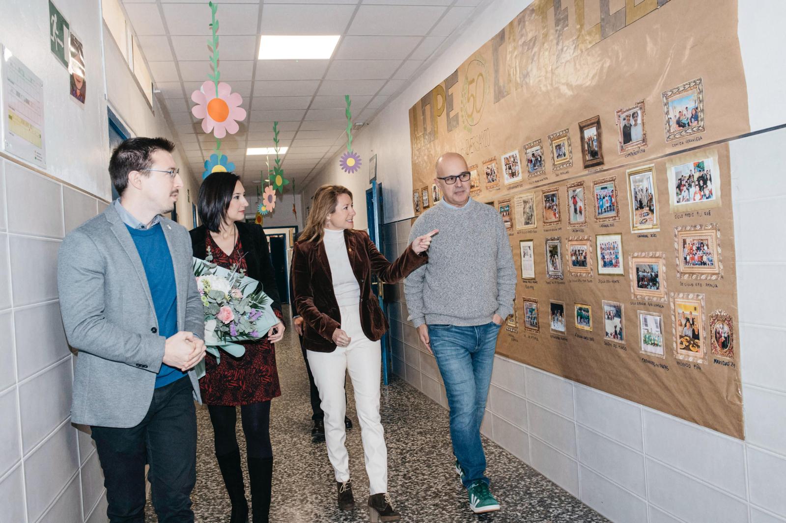
[[[48,2],[4,2],[0,16],[0,42],[42,79],[46,137],[43,169],[0,148],[0,520],[13,523],[106,521],[94,444],[69,417],[76,357],[57,300],[57,249],[111,199],[108,104],[134,135],[172,135],[105,33],[100,0],[55,3],[84,45],[83,107],[50,52]],[[199,185],[184,157],[175,152],[186,184],[178,216],[190,227],[185,189]]]

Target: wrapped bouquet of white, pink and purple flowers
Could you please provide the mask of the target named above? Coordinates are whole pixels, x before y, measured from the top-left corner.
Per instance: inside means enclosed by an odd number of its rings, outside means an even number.
[[[256,290],[257,280],[199,258],[193,258],[193,272],[204,305],[204,343],[217,363],[219,349],[241,357],[245,349],[237,342],[262,338],[278,323],[272,300]],[[204,360],[194,370],[204,376]]]

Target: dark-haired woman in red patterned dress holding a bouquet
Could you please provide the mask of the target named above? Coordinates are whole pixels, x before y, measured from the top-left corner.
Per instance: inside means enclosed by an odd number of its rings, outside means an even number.
[[[244,222],[248,207],[244,194],[240,177],[236,174],[213,173],[204,179],[199,192],[199,214],[203,225],[191,231],[193,255],[226,269],[237,267],[259,281],[281,320],[283,316],[267,238],[262,227]],[[235,408],[238,405],[246,437],[253,521],[268,521],[273,477],[270,400],[281,396],[274,343],[281,340],[284,328],[279,321],[263,338],[244,342],[245,353],[241,357],[222,353],[220,364],[216,364],[215,357],[209,354],[205,357],[206,374],[200,380],[200,392],[208,405],[215,432],[215,457],[232,502],[231,523],[248,521],[241,454],[235,435]]]

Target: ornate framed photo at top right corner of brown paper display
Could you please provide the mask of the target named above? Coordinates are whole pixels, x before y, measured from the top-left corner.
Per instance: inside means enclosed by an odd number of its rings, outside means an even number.
[[[663,91],[666,141],[704,131],[704,86],[700,78]]]

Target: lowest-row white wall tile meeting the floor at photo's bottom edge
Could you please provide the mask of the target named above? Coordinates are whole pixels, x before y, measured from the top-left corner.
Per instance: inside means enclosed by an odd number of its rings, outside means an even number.
[[[647,523],[647,502],[619,485],[579,465],[582,502],[606,518],[624,523]]]

